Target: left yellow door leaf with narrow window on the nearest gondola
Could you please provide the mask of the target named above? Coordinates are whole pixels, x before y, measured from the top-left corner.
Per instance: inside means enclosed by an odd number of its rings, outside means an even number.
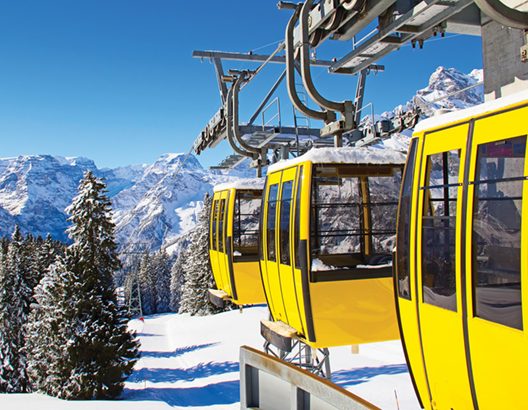
[[[420,166],[417,303],[433,409],[470,409],[460,249],[464,151],[469,126],[427,133]],[[426,406],[427,407],[427,406]]]

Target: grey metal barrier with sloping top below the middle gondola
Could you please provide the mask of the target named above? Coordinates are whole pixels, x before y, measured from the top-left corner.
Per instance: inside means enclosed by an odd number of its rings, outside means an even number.
[[[326,379],[248,346],[240,348],[240,408],[379,410]]]

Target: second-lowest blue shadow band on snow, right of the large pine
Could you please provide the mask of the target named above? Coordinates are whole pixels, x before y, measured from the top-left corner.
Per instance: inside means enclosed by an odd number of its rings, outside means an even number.
[[[152,383],[171,383],[177,381],[192,381],[202,377],[209,377],[224,373],[238,372],[239,365],[235,362],[200,363],[188,369],[150,369],[144,368],[134,371],[128,378],[129,382],[141,383],[145,380]]]

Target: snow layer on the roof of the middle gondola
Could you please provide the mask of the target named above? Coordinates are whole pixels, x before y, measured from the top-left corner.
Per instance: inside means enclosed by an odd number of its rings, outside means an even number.
[[[312,148],[300,157],[270,165],[268,173],[304,161],[314,164],[403,165],[405,164],[405,153],[386,147]]]

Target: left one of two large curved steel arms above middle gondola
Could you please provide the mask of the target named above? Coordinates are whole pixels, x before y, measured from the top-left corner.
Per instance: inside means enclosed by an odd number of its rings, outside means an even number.
[[[285,44],[286,44],[286,84],[288,88],[288,95],[290,100],[303,114],[307,115],[310,118],[315,118],[317,120],[323,120],[324,122],[335,121],[335,113],[332,111],[317,111],[307,107],[299,98],[297,94],[297,89],[295,87],[295,49],[293,44],[293,31],[295,28],[295,23],[299,20],[300,7],[297,6],[295,11],[286,26],[285,34]]]

